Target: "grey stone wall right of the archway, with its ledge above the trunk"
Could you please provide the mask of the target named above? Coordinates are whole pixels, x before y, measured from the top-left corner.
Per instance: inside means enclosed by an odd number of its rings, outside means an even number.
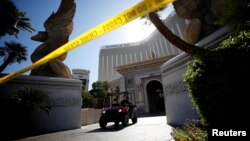
[[[210,48],[228,35],[230,31],[224,27],[196,45]],[[198,114],[192,107],[191,98],[183,82],[187,62],[191,59],[186,53],[181,53],[161,66],[167,123],[170,125],[181,125],[187,119],[198,119]]]

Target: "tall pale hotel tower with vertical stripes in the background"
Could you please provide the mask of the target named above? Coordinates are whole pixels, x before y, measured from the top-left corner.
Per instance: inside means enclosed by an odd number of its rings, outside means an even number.
[[[183,38],[186,21],[172,12],[164,23],[177,36]],[[153,31],[145,40],[135,43],[105,45],[99,54],[99,81],[113,81],[122,76],[116,71],[118,66],[144,62],[153,58],[173,56],[181,53],[179,49],[169,43],[157,30]]]

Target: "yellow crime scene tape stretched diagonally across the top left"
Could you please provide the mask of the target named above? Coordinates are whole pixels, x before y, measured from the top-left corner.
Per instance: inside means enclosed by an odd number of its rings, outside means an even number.
[[[173,2],[174,0],[144,0],[137,5],[121,12],[120,14],[106,20],[105,22],[99,24],[98,26],[90,29],[89,31],[81,34],[80,36],[74,38],[73,40],[69,41],[68,43],[62,45],[55,51],[51,52],[50,54],[46,55],[42,59],[38,60],[37,62],[33,63],[32,65],[23,68],[19,71],[16,71],[14,73],[5,75],[0,78],[0,84],[3,84],[4,82],[11,80],[29,70],[32,70],[34,68],[39,67],[40,65],[43,65],[50,60],[53,60],[64,53],[67,53],[68,51],[88,42],[91,41],[103,34],[106,34],[138,17],[144,16],[150,12],[153,12],[155,10],[158,10],[159,8]]]

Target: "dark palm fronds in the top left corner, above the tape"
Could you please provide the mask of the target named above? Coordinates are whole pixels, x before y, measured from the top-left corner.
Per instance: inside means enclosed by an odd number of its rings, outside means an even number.
[[[0,37],[6,33],[17,37],[18,29],[29,32],[35,31],[29,23],[30,19],[26,18],[25,15],[26,13],[19,11],[12,1],[1,0],[0,17],[2,22],[0,22]]]

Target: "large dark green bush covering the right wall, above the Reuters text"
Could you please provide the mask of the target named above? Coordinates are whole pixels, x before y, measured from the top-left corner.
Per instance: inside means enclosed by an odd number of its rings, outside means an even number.
[[[249,60],[250,32],[242,31],[189,62],[184,81],[193,106],[208,128],[245,125]]]

